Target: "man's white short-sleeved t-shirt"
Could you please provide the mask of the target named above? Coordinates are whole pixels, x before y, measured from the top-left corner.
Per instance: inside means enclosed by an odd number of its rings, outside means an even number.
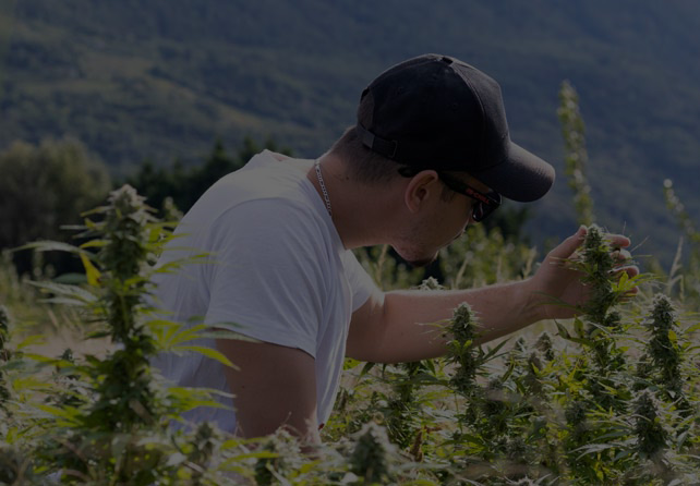
[[[158,275],[156,305],[172,313],[172,320],[204,323],[309,353],[315,359],[322,424],[333,410],[351,315],[376,288],[343,247],[306,179],[313,161],[279,158],[268,150],[256,155],[185,215],[176,231],[180,238],[159,265],[203,252],[214,263]],[[215,345],[213,339],[196,344]],[[161,354],[153,364],[181,386],[229,392],[224,365],[200,353]],[[236,428],[229,410],[202,406],[184,418]]]

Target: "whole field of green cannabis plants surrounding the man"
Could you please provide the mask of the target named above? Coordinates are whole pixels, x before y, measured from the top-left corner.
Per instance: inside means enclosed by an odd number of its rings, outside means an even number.
[[[541,323],[474,345],[468,305],[447,323],[439,360],[376,365],[348,360],[324,446],[290,435],[227,436],[208,424],[169,427],[210,403],[149,366],[161,351],[205,353],[202,327],[149,307],[149,277],[173,221],[124,186],[73,228],[81,275],[20,277],[0,268],[0,485],[697,485],[700,484],[700,233],[667,181],[684,233],[673,267],[616,274],[588,198],[576,96],[560,120],[577,212],[589,231],[568,262],[592,299],[578,318]],[[661,190],[661,189],[660,189]],[[681,252],[680,248],[685,248]],[[386,290],[470,288],[530,276],[543,255],[497,229],[470,227],[440,255],[444,281],[401,267],[386,247],[362,252]],[[621,276],[620,276],[621,275]],[[636,299],[626,297],[639,288]],[[71,336],[70,348],[51,345]]]

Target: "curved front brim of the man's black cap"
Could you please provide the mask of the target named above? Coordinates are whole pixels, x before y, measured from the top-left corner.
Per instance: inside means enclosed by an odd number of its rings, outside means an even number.
[[[502,196],[520,203],[544,196],[555,178],[551,165],[512,142],[503,162],[472,175]]]

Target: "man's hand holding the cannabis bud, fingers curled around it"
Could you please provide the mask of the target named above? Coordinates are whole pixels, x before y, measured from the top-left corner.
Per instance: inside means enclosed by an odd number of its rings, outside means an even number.
[[[529,287],[532,305],[540,307],[542,319],[566,319],[578,314],[578,309],[588,302],[589,291],[581,282],[582,274],[567,265],[567,259],[574,258],[577,250],[586,238],[586,227],[564,240],[546,256],[534,277],[526,282]],[[639,275],[635,265],[625,265],[630,255],[624,250],[630,245],[628,238],[619,234],[606,234],[611,246],[619,248],[614,252],[614,257],[620,262],[618,272],[625,271],[629,277]],[[637,293],[632,289],[630,294]]]

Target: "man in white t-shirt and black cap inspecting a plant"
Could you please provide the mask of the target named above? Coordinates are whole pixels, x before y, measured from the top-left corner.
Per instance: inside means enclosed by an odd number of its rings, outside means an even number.
[[[189,420],[213,420],[245,437],[283,426],[317,442],[346,355],[381,363],[439,356],[449,336],[431,323],[462,302],[480,316],[482,342],[572,316],[547,303],[584,302],[579,275],[562,263],[584,229],[529,280],[467,291],[384,293],[350,252],[390,244],[426,265],[502,196],[534,201],[553,182],[548,163],[510,142],[494,80],[449,57],[405,61],[362,93],[357,125],[319,159],[264,151],[188,212],[177,245],[208,252],[216,265],[161,276],[164,307],[178,320],[200,316],[255,341],[204,343],[237,369],[200,355],[164,355],[156,365],[181,385],[234,394],[227,401],[234,412],[197,409]]]

